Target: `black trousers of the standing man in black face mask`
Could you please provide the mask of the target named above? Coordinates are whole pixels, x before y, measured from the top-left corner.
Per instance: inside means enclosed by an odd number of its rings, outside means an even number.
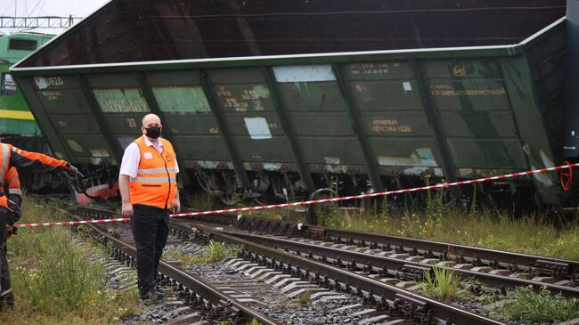
[[[143,294],[155,288],[157,267],[169,235],[169,210],[141,204],[135,204],[133,209],[137,285]]]

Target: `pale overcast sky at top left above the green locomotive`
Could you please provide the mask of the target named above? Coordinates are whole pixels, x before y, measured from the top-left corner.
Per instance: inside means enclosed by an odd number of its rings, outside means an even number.
[[[66,16],[85,18],[110,0],[2,0],[0,16],[35,17]],[[77,20],[75,20],[77,22]],[[27,29],[37,33],[61,34],[65,28]],[[0,28],[0,33],[13,34],[20,31],[14,28]]]

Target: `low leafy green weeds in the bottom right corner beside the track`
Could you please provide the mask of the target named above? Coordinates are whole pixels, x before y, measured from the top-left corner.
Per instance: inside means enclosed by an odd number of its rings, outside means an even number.
[[[579,317],[579,302],[552,295],[547,288],[535,293],[531,288],[516,288],[507,294],[512,303],[504,305],[502,316],[513,321],[559,323]]]

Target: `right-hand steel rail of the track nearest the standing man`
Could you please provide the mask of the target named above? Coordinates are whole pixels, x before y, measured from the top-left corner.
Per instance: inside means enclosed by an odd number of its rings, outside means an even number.
[[[302,270],[319,272],[320,274],[328,276],[330,279],[336,279],[357,288],[362,288],[367,292],[371,292],[372,295],[379,295],[391,300],[402,297],[420,304],[428,305],[428,307],[434,312],[434,316],[438,319],[448,319],[456,324],[505,324],[502,321],[497,321],[477,313],[472,313],[453,305],[445,305],[434,299],[414,294],[402,288],[396,288],[395,286],[388,285],[379,280],[373,280],[355,272],[349,272],[329,264],[314,261],[310,258],[297,256],[286,253],[280,249],[274,249],[265,245],[257,244],[253,241],[244,240],[199,223],[183,223],[183,220],[174,220],[172,224],[177,228],[181,228],[185,232],[192,232],[194,230],[207,232],[211,235],[211,238],[215,240],[233,245],[243,245],[245,249],[260,256],[274,258],[275,261],[290,264],[299,267]]]

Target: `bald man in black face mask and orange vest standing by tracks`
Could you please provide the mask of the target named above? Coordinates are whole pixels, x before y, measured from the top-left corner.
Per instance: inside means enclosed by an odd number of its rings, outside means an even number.
[[[118,176],[122,215],[131,218],[137,249],[137,285],[143,299],[164,297],[155,278],[167,244],[169,214],[181,208],[175,150],[160,137],[161,128],[157,115],[143,118],[143,136],[126,147]]]

